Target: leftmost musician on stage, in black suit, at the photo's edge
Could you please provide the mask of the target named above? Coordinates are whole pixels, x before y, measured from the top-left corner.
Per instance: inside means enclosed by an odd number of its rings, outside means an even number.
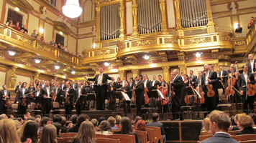
[[[7,102],[7,99],[9,99],[10,97],[11,97],[10,92],[7,91],[7,87],[4,84],[3,90],[0,91],[0,114],[7,113],[8,104],[7,104],[7,106],[5,104]]]

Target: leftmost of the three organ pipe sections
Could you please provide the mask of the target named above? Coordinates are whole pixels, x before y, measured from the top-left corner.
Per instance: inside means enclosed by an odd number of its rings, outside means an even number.
[[[101,41],[116,39],[120,34],[120,4],[101,7]]]

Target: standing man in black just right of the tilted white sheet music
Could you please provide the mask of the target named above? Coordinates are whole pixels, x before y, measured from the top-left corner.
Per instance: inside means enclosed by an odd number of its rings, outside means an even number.
[[[133,90],[136,93],[137,116],[141,116],[141,107],[145,104],[144,84],[142,82],[142,78],[142,75],[137,76],[137,84],[133,87]]]

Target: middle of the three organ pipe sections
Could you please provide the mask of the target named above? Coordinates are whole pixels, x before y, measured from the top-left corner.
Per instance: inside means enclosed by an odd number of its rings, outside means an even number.
[[[137,0],[138,30],[140,34],[161,31],[161,11],[159,0]]]

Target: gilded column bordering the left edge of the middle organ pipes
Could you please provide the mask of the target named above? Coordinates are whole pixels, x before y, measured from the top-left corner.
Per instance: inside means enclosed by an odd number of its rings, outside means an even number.
[[[133,15],[133,31],[132,36],[138,36],[138,4],[137,0],[132,0],[132,15]]]

